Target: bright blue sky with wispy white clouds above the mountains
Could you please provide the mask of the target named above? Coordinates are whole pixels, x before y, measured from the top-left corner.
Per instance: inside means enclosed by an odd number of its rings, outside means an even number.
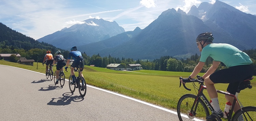
[[[192,5],[216,0],[0,0],[0,22],[35,40],[90,18],[116,21],[125,31],[144,29],[169,8],[188,13]],[[220,0],[222,1],[222,0]],[[256,15],[255,0],[223,0]]]

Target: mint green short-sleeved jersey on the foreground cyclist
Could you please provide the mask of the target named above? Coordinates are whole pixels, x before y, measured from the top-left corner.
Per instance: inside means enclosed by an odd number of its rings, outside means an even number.
[[[252,64],[251,58],[238,48],[229,44],[209,44],[202,49],[200,62],[205,62],[210,56],[214,61],[224,63],[228,68]]]

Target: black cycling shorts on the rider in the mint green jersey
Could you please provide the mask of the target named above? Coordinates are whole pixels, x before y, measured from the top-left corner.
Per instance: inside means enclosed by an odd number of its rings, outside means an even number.
[[[229,83],[227,91],[236,94],[239,83],[253,76],[251,65],[232,66],[221,69],[210,75],[213,83]]]

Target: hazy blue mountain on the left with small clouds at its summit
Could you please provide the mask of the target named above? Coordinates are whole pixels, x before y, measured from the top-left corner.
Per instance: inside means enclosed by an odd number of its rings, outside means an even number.
[[[86,45],[93,42],[108,39],[125,32],[115,21],[103,19],[87,19],[83,24],[75,24],[70,28],[64,28],[53,34],[44,36],[38,41],[52,44],[59,48],[71,48],[77,45]]]

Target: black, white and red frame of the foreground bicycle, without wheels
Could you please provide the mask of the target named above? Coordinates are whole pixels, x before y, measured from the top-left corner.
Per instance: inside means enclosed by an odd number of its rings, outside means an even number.
[[[191,113],[194,113],[193,109],[194,107],[196,106],[196,104],[198,104],[198,99],[201,98],[203,100],[203,102],[207,105],[207,107],[211,110],[211,112],[213,113],[214,109],[212,107],[212,105],[210,104],[210,102],[208,101],[208,99],[205,97],[205,95],[203,94],[203,90],[204,89],[207,89],[206,86],[204,86],[203,84],[200,84],[200,87],[198,89],[198,94],[196,96],[196,100],[190,110],[190,114],[191,116],[193,116],[194,114],[191,114]],[[233,101],[233,104],[232,104],[232,107],[231,107],[231,110],[229,112],[229,116],[228,116],[228,121],[231,121],[232,119],[232,113],[233,113],[233,109],[234,109],[234,105],[236,104],[236,102],[241,104],[241,102],[237,99],[236,95],[234,94],[230,94],[230,93],[227,93],[227,92],[224,92],[224,91],[221,91],[221,90],[216,90],[218,93],[221,93],[221,94],[225,94],[225,95],[228,95],[228,96],[231,96],[231,97],[234,97],[234,101]],[[240,107],[240,105],[239,105]],[[240,107],[241,108],[241,107]],[[196,110],[196,109],[195,109]],[[242,108],[241,108],[242,110]],[[217,121],[222,121],[221,118],[218,118]]]

